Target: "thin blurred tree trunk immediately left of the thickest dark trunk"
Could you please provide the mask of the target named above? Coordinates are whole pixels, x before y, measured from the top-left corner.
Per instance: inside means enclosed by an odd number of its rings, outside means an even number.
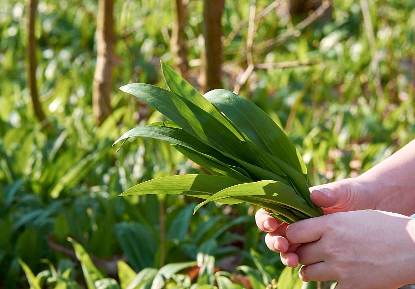
[[[187,74],[187,47],[184,34],[186,25],[186,6],[185,0],[173,0],[174,10],[176,12],[176,22],[174,23],[171,33],[171,50],[174,53],[174,63],[180,69],[181,76]]]

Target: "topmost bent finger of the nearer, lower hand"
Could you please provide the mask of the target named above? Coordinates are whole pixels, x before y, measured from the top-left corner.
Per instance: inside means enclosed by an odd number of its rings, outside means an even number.
[[[285,234],[290,244],[302,244],[317,241],[326,227],[327,217],[321,216],[301,220],[289,225]]]

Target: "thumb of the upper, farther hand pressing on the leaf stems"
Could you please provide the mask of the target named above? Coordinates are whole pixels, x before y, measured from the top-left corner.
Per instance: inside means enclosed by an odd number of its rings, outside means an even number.
[[[311,201],[319,207],[344,209],[344,211],[352,209],[347,208],[352,194],[348,180],[311,187],[310,192]]]

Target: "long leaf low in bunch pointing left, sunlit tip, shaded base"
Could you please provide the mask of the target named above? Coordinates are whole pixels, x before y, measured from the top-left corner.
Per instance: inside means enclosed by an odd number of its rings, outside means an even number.
[[[120,196],[130,195],[186,195],[207,199],[214,193],[240,182],[223,176],[215,175],[175,175],[152,179],[135,185]],[[229,198],[224,204],[237,204],[240,201]]]

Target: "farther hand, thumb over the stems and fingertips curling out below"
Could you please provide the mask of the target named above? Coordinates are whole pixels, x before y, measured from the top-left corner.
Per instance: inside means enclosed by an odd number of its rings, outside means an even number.
[[[310,198],[315,205],[322,207],[325,214],[378,209],[375,198],[365,187],[359,178],[345,179],[311,187]],[[255,221],[260,230],[269,232],[265,236],[265,243],[269,250],[284,253],[281,254],[281,258],[285,258],[288,264],[298,263],[298,258],[292,253],[297,245],[289,245],[285,238],[287,224],[269,216],[262,209],[256,212]]]

